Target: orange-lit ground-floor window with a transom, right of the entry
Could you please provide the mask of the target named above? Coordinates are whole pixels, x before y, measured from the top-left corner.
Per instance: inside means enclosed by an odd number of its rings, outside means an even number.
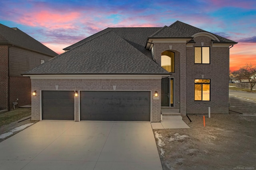
[[[210,79],[195,79],[195,101],[210,101]]]

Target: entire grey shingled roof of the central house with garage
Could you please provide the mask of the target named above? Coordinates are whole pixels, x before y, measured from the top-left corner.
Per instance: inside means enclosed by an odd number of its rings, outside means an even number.
[[[170,36],[192,39],[198,32],[207,31],[180,21],[169,27],[107,28],[66,47],[64,50],[69,51],[25,74],[170,74],[145,49],[147,39]],[[223,43],[236,43],[218,38]]]

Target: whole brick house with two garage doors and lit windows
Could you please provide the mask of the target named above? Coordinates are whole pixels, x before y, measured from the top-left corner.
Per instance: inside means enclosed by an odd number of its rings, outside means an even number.
[[[176,21],[107,28],[33,70],[32,119],[159,122],[161,108],[228,113],[236,42]]]

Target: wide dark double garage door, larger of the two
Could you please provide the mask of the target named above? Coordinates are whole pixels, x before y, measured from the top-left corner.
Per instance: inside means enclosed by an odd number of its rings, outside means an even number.
[[[81,91],[81,120],[150,121],[150,92]]]

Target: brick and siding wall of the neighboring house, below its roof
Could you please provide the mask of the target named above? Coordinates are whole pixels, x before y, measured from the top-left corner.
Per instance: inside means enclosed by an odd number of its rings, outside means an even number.
[[[15,107],[31,104],[31,80],[21,74],[40,65],[40,59],[47,61],[51,58],[26,49],[0,45],[0,110],[13,109],[13,102],[17,99],[18,106]]]

